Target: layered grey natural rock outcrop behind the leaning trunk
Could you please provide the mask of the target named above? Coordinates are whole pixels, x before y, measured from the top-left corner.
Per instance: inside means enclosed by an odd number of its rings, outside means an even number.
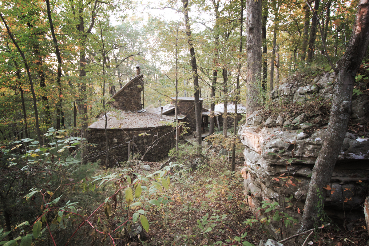
[[[293,104],[305,104],[308,100],[330,100],[333,79],[334,73],[326,73],[304,86],[284,83],[273,90],[271,97],[274,100],[282,97],[290,102],[291,108]],[[368,98],[365,101],[363,97],[367,95],[353,99],[352,121],[364,124],[358,128],[366,129],[369,103]],[[305,112],[297,117],[289,115],[292,112],[288,109],[269,117],[256,111],[247,118],[247,123],[239,130],[245,146],[245,167],[241,173],[251,208],[261,207],[263,200],[276,201],[286,208],[285,198],[291,198],[292,206],[285,211],[299,218],[328,118],[319,111]],[[368,159],[368,137],[347,132],[325,200],[324,208],[331,218],[342,222],[342,219],[350,221],[363,215],[362,204],[368,194]]]

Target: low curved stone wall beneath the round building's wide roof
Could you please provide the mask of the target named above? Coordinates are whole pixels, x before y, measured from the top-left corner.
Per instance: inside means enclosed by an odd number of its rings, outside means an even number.
[[[173,128],[170,126],[151,129],[108,129],[109,166],[128,160],[128,142],[130,153],[140,156],[143,160],[154,161],[168,156],[169,149],[175,145]],[[141,136],[139,136],[141,135]],[[158,136],[160,137],[158,139]],[[88,159],[91,162],[100,160],[105,164],[105,132],[104,129],[91,129],[88,132]],[[96,145],[94,147],[93,145]]]

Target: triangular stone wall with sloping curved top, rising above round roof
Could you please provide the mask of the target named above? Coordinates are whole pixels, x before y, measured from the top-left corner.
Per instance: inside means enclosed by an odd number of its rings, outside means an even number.
[[[119,110],[141,110],[141,91],[143,75],[134,77],[130,82],[122,87],[114,96],[113,100],[109,101],[113,108]]]

